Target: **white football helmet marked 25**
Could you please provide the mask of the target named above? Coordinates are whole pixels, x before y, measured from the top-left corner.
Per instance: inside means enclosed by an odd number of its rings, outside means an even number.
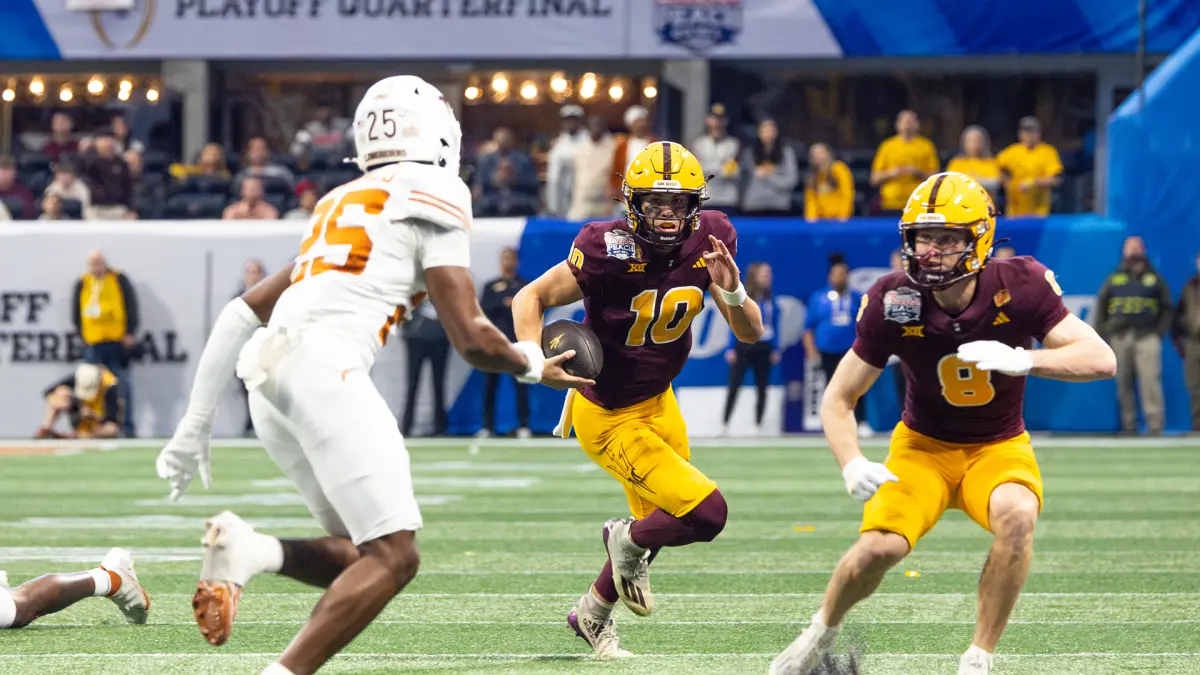
[[[428,162],[458,173],[462,127],[437,86],[401,74],[367,89],[354,112],[354,163]]]

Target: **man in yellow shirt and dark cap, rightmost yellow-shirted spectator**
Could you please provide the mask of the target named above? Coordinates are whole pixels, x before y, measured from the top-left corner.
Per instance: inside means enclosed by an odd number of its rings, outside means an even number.
[[[1042,142],[1042,123],[1034,117],[1021,118],[1018,143],[996,157],[1004,172],[1004,197],[1008,217],[1050,214],[1051,191],[1062,183],[1062,161],[1054,145]]]

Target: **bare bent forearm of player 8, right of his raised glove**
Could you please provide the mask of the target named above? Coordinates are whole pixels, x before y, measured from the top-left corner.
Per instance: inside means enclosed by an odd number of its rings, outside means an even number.
[[[1067,315],[1043,342],[1044,350],[1030,352],[1030,375],[1066,382],[1109,380],[1117,374],[1112,347],[1091,325],[1075,315]]]

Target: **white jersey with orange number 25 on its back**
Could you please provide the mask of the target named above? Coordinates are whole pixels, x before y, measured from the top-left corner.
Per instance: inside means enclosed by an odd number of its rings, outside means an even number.
[[[367,172],[317,203],[269,325],[349,342],[370,369],[425,297],[425,270],[470,267],[470,190],[449,171],[397,162]]]

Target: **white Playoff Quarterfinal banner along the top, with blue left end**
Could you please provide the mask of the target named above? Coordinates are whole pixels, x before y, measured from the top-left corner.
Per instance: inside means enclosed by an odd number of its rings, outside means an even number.
[[[65,0],[0,5],[0,18],[10,14],[0,22],[0,58],[841,55],[812,0],[132,0],[132,10],[95,12],[68,11]]]

